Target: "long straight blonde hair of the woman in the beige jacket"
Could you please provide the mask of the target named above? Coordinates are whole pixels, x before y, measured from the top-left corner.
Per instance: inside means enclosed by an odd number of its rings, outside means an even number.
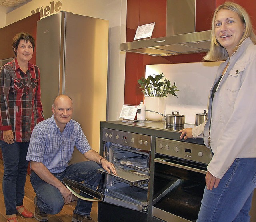
[[[239,18],[241,19],[242,23],[245,24],[245,32],[242,38],[240,39],[240,41],[238,42],[238,45],[236,46],[236,48],[234,48],[234,52],[237,50],[238,46],[248,37],[256,45],[256,35],[252,28],[252,22],[250,20],[250,16],[246,12],[246,10],[242,6],[234,2],[225,2],[224,4],[216,8],[213,14],[210,50],[206,54],[206,56],[204,56],[204,59],[208,61],[222,61],[228,58],[228,52],[217,41],[215,32],[214,32],[214,29],[215,29],[214,22],[215,22],[216,14],[220,9],[228,9],[230,11],[236,12],[236,14],[238,14]]]

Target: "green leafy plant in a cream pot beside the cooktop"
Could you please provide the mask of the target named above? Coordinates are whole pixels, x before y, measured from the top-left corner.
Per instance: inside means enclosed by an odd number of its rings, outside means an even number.
[[[152,121],[162,120],[163,116],[158,113],[163,113],[165,110],[164,97],[167,97],[168,94],[178,97],[176,92],[179,90],[175,86],[175,82],[171,85],[171,82],[164,78],[163,73],[161,73],[154,77],[151,75],[147,78],[142,77],[138,80],[138,84],[140,84],[141,91],[144,94],[146,110],[154,111],[146,112],[146,119]]]

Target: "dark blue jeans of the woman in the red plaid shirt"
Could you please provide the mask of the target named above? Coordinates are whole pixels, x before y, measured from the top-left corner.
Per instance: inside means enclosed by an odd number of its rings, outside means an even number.
[[[0,140],[0,146],[4,160],[3,194],[6,215],[17,214],[16,206],[23,205],[25,195],[29,142],[8,144]]]

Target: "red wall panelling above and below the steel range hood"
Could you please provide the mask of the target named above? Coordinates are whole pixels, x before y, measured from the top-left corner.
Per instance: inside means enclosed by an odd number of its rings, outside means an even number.
[[[215,0],[196,0],[196,31],[210,30],[209,17],[215,7]],[[152,38],[166,36],[166,0],[128,0],[126,42],[133,41],[139,25],[151,22],[156,22]],[[139,104],[143,99],[137,80],[145,76],[146,65],[200,62],[203,56],[204,54],[186,54],[160,57],[126,53],[124,103]]]

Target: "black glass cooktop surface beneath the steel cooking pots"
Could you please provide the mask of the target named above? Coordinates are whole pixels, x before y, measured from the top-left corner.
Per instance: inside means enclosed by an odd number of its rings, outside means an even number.
[[[133,123],[128,123],[134,126],[145,126],[145,127],[149,127],[149,128],[155,128],[155,129],[166,129],[166,130],[174,130],[174,131],[180,131],[184,128],[194,128],[195,125],[194,124],[184,124],[182,126],[169,126],[166,125],[165,121],[146,121],[146,122],[137,122],[136,120],[134,120]]]

